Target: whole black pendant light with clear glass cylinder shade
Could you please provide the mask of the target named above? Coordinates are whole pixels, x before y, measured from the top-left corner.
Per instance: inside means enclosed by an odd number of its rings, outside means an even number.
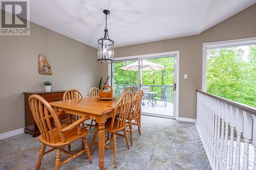
[[[110,14],[110,11],[103,10],[103,13],[107,16]],[[104,29],[104,37],[98,40],[98,62],[114,62],[114,41],[110,39],[106,25]]]

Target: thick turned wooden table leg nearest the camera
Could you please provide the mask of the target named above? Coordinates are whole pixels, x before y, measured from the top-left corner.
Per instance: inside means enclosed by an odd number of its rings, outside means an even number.
[[[99,169],[104,169],[104,151],[105,151],[105,124],[98,123],[98,148],[99,148]]]

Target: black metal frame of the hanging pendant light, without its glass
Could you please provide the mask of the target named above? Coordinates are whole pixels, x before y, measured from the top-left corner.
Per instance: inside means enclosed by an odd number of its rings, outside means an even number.
[[[113,45],[113,48],[114,48],[114,43],[115,43],[113,40],[110,39],[108,28],[106,27],[107,15],[110,14],[110,11],[109,10],[103,10],[103,13],[106,15],[106,20],[105,20],[104,37],[98,39],[98,44],[101,45],[101,56],[100,56],[100,59],[98,59],[98,62],[100,62],[100,63],[113,63],[114,62],[114,57],[113,57],[113,60],[112,60],[112,59],[106,58],[106,55],[103,56],[103,41],[110,41],[111,44],[108,45],[108,46]]]

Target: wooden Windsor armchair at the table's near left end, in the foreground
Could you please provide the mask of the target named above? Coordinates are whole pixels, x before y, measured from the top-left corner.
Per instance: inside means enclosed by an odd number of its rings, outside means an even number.
[[[76,158],[84,152],[87,152],[90,163],[92,158],[90,155],[86,135],[87,129],[81,129],[80,124],[83,123],[87,116],[82,116],[76,122],[61,125],[58,119],[58,115],[64,112],[55,112],[49,103],[37,94],[33,94],[29,97],[29,106],[32,111],[35,123],[41,133],[39,140],[42,143],[41,151],[36,164],[36,169],[40,168],[42,157],[56,149],[55,169],[59,169],[60,165],[63,165],[70,160]],[[54,120],[54,126],[51,125],[50,119]],[[72,154],[69,151],[63,149],[70,145],[71,142],[82,139],[82,150],[76,154]],[[51,147],[48,151],[45,151],[46,146]],[[61,152],[70,156],[70,158],[61,162]]]

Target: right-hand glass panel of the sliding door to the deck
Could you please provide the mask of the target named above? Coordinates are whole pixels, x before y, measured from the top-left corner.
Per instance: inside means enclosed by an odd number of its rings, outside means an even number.
[[[140,60],[142,112],[174,116],[174,57]]]

